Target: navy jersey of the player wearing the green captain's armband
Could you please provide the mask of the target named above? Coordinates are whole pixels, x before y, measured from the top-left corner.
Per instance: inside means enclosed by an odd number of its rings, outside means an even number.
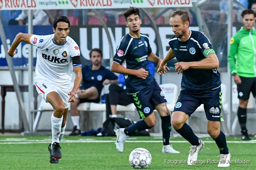
[[[212,53],[210,40],[200,31],[192,31],[187,41],[173,36],[169,46],[179,62],[201,61]],[[182,73],[181,88],[193,91],[214,89],[221,85],[221,75],[217,69],[189,68]]]

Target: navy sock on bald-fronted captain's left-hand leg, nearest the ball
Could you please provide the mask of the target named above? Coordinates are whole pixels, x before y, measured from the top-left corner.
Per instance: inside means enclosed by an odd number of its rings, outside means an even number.
[[[189,141],[191,145],[197,146],[199,145],[199,138],[194,134],[193,130],[190,128],[190,126],[187,123],[184,123],[181,129],[176,130],[184,139]]]

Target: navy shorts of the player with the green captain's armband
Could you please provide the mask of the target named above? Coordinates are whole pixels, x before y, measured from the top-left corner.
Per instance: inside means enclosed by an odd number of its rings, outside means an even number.
[[[180,96],[177,98],[173,112],[181,111],[190,117],[191,114],[193,114],[196,109],[203,104],[207,120],[224,121],[221,116],[221,96],[221,87],[197,93],[182,89]]]

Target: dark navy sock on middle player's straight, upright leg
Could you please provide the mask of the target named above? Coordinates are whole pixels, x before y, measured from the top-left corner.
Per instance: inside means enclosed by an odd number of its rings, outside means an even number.
[[[170,139],[170,133],[172,129],[171,125],[171,116],[163,116],[161,117],[162,120],[162,133],[163,133],[163,145],[170,145],[169,139]]]

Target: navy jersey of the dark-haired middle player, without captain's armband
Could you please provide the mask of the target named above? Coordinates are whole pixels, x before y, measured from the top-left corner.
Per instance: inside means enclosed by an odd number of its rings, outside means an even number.
[[[148,70],[147,56],[152,52],[148,37],[141,34],[140,38],[126,34],[116,49],[113,62],[123,65],[132,70],[144,68]],[[134,94],[146,88],[154,78],[148,74],[146,79],[135,75],[125,75],[125,86],[127,94]]]

